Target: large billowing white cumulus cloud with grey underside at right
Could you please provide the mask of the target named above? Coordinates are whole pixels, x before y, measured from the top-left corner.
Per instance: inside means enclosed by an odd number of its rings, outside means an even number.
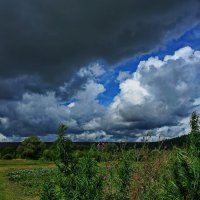
[[[199,110],[200,51],[184,47],[163,60],[141,61],[132,78],[120,83],[120,93],[108,109],[110,129],[119,134],[179,128],[167,137],[186,133],[184,119]],[[184,126],[183,121],[186,123]],[[119,131],[121,130],[121,131]],[[163,129],[164,130],[164,129]]]

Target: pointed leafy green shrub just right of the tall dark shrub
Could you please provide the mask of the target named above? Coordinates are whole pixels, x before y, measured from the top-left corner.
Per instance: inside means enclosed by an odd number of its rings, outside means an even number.
[[[92,149],[79,160],[73,176],[72,180],[74,183],[72,185],[75,187],[65,187],[66,199],[101,199],[103,194],[103,176],[97,161],[93,158]],[[68,195],[69,190],[71,191],[71,196]]]

